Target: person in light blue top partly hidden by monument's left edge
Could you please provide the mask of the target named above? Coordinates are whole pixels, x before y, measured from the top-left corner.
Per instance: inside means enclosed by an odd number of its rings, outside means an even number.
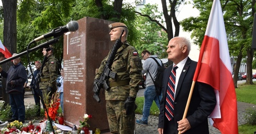
[[[64,83],[64,72],[63,69],[61,69],[61,76],[57,78],[56,80],[57,83],[57,92],[60,92],[60,99],[61,99],[61,109],[62,113],[64,111],[63,107],[63,83]]]

